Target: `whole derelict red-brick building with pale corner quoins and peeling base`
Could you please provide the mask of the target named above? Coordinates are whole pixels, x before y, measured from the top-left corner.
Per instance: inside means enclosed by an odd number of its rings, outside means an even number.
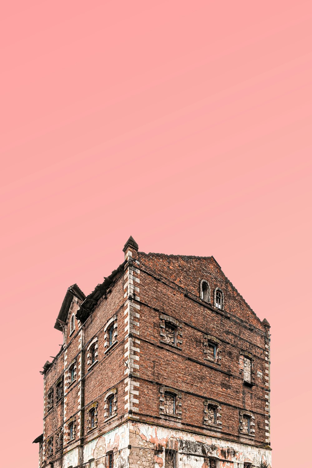
[[[211,257],[145,254],[68,288],[44,365],[39,467],[271,464],[270,335]]]

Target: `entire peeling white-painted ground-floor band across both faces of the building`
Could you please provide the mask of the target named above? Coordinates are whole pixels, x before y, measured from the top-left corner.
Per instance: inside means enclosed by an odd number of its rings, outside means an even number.
[[[129,448],[131,446],[131,448]],[[244,463],[271,468],[271,451],[199,436],[184,431],[128,421],[83,447],[85,468],[107,468],[107,453],[114,453],[114,468],[167,468],[166,450],[175,451],[176,468],[210,468],[209,458],[217,468],[244,468]],[[78,448],[64,454],[62,468],[77,467]]]

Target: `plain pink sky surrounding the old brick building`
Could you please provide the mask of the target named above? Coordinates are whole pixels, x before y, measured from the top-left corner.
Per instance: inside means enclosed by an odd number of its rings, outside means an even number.
[[[1,466],[37,466],[66,289],[91,292],[130,234],[213,255],[267,318],[273,468],[308,466],[311,1],[1,10]]]

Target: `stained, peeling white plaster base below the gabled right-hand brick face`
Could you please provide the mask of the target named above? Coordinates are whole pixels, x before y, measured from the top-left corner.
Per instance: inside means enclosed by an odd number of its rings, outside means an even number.
[[[147,424],[131,426],[135,434],[131,452],[135,453],[135,444],[139,450],[136,449],[137,456],[132,457],[130,468],[167,468],[165,449],[176,450],[178,468],[209,468],[209,457],[218,460],[217,468],[244,468],[244,462],[260,467],[261,461],[267,461],[271,467],[270,450]],[[141,459],[143,451],[145,457]]]

